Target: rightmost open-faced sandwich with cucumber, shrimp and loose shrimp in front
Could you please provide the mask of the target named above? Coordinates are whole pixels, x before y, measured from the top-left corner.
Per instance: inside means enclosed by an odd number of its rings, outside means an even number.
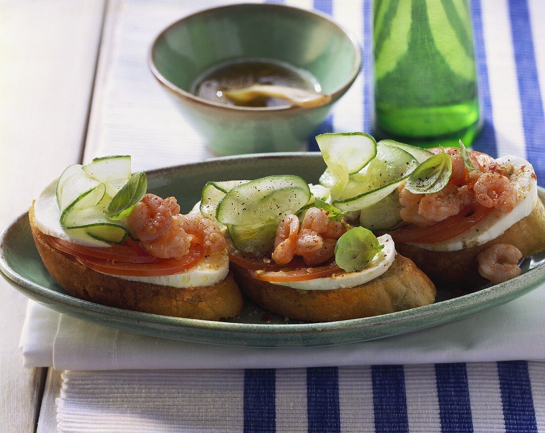
[[[543,203],[523,158],[494,160],[462,142],[432,151],[375,143],[362,133],[317,141],[333,205],[354,224],[389,233],[435,284],[503,282],[519,275],[520,259],[545,249]]]

